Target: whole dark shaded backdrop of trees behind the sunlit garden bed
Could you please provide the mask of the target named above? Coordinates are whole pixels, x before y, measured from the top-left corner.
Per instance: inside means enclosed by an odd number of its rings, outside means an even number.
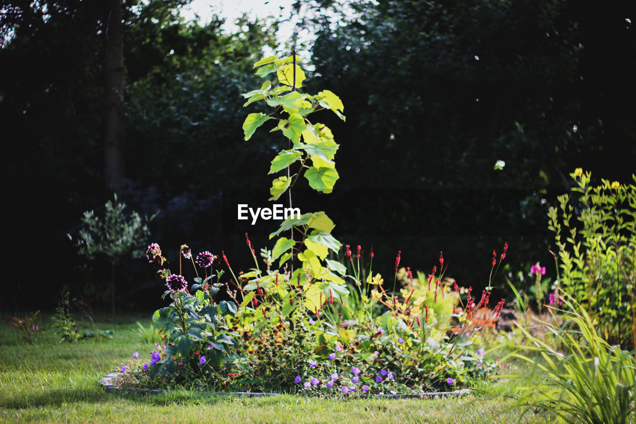
[[[187,3],[0,3],[11,275],[0,309],[53,309],[63,285],[95,309],[108,306],[110,265],[79,257],[67,233],[76,236],[83,211],[103,212],[113,192],[127,211],[159,213],[148,242],[172,262],[187,243],[225,250],[246,271],[245,232],[257,251],[272,247],[277,223],[239,222],[236,204],[266,204],[265,176],[284,140],[261,129],[243,141],[247,113],[265,110],[242,108],[240,94],[261,85],[252,64],[262,49],[288,55],[295,36],[281,45],[276,20],[243,18],[234,33],[221,31],[223,17],[186,22]],[[114,177],[104,154],[115,125],[104,101],[113,11],[125,66],[123,167]],[[597,182],[632,181],[633,1],[314,0],[293,11],[299,31],[315,34],[310,45],[296,41],[310,56],[303,88],[335,92],[347,115],[316,117],[340,143],[335,190],[317,194],[300,181],[294,206],[326,211],[334,236],[367,257],[373,245],[374,271],[385,278],[398,250],[401,264],[422,271],[444,251],[446,275],[481,288],[492,250],[507,241],[494,285],[510,299],[504,277],[523,288],[529,279],[518,273],[537,261],[556,278],[546,212],[575,167]],[[116,282],[121,310],[163,303],[145,260],[121,264]]]

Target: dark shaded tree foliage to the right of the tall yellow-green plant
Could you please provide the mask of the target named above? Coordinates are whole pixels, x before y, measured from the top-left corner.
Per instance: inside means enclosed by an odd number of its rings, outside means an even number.
[[[545,212],[574,167],[629,180],[633,165],[614,166],[636,157],[628,2],[354,6],[361,16],[324,25],[313,48],[319,85],[347,105],[347,123],[332,122],[348,140],[338,160],[352,165],[335,217],[347,236],[414,251],[419,268],[444,250],[450,275],[483,285],[504,241],[513,274],[552,262]]]

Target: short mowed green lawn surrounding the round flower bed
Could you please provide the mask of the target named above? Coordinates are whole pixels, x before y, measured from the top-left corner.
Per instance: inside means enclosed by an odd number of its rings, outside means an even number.
[[[150,323],[149,314],[124,316],[120,322],[99,320],[113,330],[111,340],[58,343],[55,329],[46,329],[29,346],[10,327],[9,314],[0,320],[0,422],[209,422],[215,423],[513,423],[518,411],[504,397],[446,399],[322,399],[298,395],[247,398],[198,392],[144,395],[106,392],[97,381],[125,364],[135,351],[153,349],[137,334],[135,322]],[[41,320],[49,327],[49,317]],[[92,329],[78,322],[82,329]],[[548,423],[541,411],[522,422]]]

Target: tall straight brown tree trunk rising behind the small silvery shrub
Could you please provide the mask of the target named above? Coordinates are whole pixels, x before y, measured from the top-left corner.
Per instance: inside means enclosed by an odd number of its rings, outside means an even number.
[[[104,62],[104,178],[114,191],[124,178],[123,23],[122,0],[106,2]]]

